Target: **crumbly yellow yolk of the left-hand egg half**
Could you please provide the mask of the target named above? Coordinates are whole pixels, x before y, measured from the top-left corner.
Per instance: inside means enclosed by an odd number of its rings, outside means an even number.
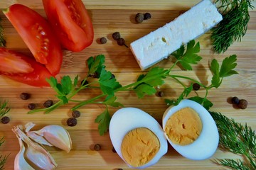
[[[136,128],[122,140],[122,156],[134,166],[142,166],[154,158],[160,149],[159,139],[148,128]]]

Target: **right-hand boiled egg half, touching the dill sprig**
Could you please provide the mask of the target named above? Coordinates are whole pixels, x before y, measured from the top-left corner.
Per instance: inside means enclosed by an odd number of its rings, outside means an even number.
[[[183,100],[169,107],[163,116],[166,139],[183,157],[208,159],[215,153],[219,134],[210,113],[199,103]]]

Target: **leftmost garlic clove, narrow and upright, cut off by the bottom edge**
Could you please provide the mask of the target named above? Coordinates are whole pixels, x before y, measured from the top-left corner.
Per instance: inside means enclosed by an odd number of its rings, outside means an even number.
[[[18,154],[16,154],[16,157],[14,159],[14,170],[34,170],[33,167],[30,166],[24,158],[25,146],[23,145],[21,137],[18,137],[18,143],[20,145],[20,151],[18,152]]]

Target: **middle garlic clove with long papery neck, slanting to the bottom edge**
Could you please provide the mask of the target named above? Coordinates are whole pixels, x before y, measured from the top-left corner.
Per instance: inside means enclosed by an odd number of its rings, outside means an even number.
[[[25,135],[20,127],[21,126],[14,127],[13,131],[27,145],[24,157],[26,157],[27,160],[38,166],[38,168],[40,169],[55,169],[57,164],[54,161],[53,157],[50,156],[49,152],[41,147],[41,145],[38,145],[38,143],[33,142],[31,139],[29,139],[29,137]]]

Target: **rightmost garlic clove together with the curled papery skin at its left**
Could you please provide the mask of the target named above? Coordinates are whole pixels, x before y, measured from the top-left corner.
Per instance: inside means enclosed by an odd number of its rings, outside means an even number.
[[[48,142],[50,143],[50,145],[63,149],[66,152],[70,152],[70,149],[72,149],[72,141],[70,135],[68,131],[65,130],[63,127],[59,125],[47,125],[41,130],[29,131],[31,129],[31,126],[33,127],[34,124],[28,123],[26,125],[27,135],[36,142],[39,142],[41,144],[45,144],[46,142]],[[39,137],[37,135],[39,135]],[[40,140],[40,137],[43,137],[43,139]],[[44,139],[46,141],[44,141]]]

